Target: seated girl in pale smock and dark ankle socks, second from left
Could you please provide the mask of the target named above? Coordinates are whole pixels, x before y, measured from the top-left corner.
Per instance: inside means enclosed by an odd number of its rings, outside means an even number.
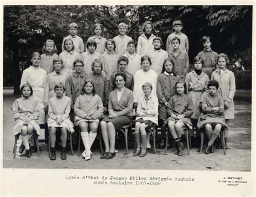
[[[55,152],[55,141],[56,141],[56,130],[60,127],[62,132],[62,153],[61,159],[66,159],[66,140],[67,130],[73,133],[73,123],[69,118],[71,99],[64,95],[65,86],[62,83],[57,83],[54,86],[56,93],[55,97],[49,100],[49,111],[48,111],[48,126],[50,127],[50,146],[51,146],[51,160],[56,160]]]

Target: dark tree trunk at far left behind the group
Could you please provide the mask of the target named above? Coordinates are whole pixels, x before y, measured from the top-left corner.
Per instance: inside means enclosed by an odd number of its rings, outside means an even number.
[[[14,95],[21,94],[19,90],[19,85],[21,84],[21,76],[22,72],[19,69],[19,47],[18,47],[18,40],[14,39],[12,41],[12,52],[13,52],[13,67],[14,67]]]

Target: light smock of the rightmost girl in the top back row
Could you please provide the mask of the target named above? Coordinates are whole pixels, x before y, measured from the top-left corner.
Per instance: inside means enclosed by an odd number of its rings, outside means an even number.
[[[173,51],[173,47],[172,47],[172,38],[174,37],[178,37],[180,39],[180,45],[179,45],[179,49],[181,51],[186,51],[188,53],[188,38],[187,36],[180,32],[180,33],[176,33],[176,32],[173,32],[171,33],[167,40],[166,40],[166,51],[168,53],[170,53],[171,51]]]

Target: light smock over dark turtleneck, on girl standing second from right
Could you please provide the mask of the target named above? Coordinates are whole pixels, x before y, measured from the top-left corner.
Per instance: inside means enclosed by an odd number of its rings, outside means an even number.
[[[191,118],[198,119],[201,110],[199,107],[201,97],[203,96],[203,92],[207,89],[207,84],[210,79],[207,74],[201,72],[198,75],[195,71],[188,73],[185,77],[185,83],[188,89],[188,95],[192,97],[194,103],[194,113]]]

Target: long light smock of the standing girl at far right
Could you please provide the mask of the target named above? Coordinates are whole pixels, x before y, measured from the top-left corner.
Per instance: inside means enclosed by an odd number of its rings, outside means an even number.
[[[211,80],[217,80],[219,82],[220,93],[224,102],[230,103],[228,108],[224,110],[225,119],[234,119],[234,94],[235,94],[235,78],[234,73],[227,68],[225,70],[217,69],[212,72]]]

